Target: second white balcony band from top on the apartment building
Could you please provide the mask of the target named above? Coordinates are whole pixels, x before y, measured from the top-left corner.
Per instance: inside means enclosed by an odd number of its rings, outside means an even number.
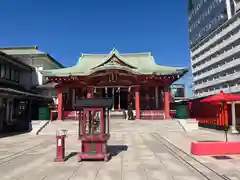
[[[195,65],[199,62],[201,62],[203,59],[205,59],[206,57],[210,56],[211,54],[214,54],[215,52],[217,52],[219,49],[222,49],[224,47],[226,47],[227,45],[233,43],[234,41],[236,41],[237,39],[240,38],[240,32],[238,32],[237,34],[234,34],[233,36],[231,36],[230,38],[224,40],[222,43],[220,43],[219,45],[216,45],[214,48],[210,49],[209,51],[207,51],[206,53],[204,53],[202,56],[198,57],[197,59],[195,59],[194,61],[192,61],[192,65]]]

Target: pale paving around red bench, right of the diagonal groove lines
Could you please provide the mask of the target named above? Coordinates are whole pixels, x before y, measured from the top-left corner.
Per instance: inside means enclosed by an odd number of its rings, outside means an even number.
[[[165,139],[175,144],[178,148],[184,150],[187,154],[190,153],[190,144],[194,141],[225,141],[225,135],[222,131],[198,130],[189,133],[171,133],[163,135]],[[240,141],[239,135],[228,135],[229,141]],[[213,156],[194,156],[207,167],[218,172],[221,175],[227,176],[229,179],[240,180],[240,155],[227,155],[229,159],[217,160]]]

